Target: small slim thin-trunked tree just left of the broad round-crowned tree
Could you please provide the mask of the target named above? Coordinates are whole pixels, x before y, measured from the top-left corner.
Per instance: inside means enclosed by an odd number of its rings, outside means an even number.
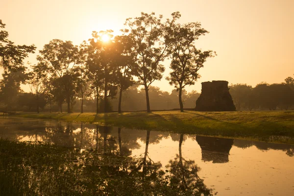
[[[29,75],[29,88],[31,94],[35,95],[36,97],[36,106],[37,106],[37,113],[39,114],[39,97],[40,94],[43,94],[46,89],[47,81],[47,65],[39,63],[37,65],[31,66],[32,71],[28,73]]]

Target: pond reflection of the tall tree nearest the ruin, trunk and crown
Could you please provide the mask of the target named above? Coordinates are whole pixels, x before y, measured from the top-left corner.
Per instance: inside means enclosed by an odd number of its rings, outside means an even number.
[[[166,168],[171,173],[171,186],[178,188],[185,195],[211,196],[212,190],[204,185],[204,180],[200,179],[197,172],[195,161],[186,160],[182,156],[182,143],[184,135],[180,135],[179,154],[176,154],[174,160],[170,160],[170,164]]]

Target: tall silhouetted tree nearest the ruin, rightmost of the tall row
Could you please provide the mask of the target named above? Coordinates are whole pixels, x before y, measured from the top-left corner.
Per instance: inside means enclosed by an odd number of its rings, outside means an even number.
[[[195,42],[199,36],[208,33],[201,28],[200,23],[178,24],[179,12],[172,13],[172,20],[166,23],[166,43],[172,59],[170,68],[172,72],[166,77],[171,85],[179,91],[179,104],[181,112],[184,112],[182,102],[182,90],[187,85],[194,85],[200,77],[198,70],[203,67],[206,58],[213,57],[212,50],[201,51],[196,49]]]

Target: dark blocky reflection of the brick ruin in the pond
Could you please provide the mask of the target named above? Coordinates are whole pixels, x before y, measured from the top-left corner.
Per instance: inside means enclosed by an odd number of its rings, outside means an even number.
[[[234,143],[233,139],[196,136],[196,141],[201,147],[202,160],[213,163],[226,163]]]

